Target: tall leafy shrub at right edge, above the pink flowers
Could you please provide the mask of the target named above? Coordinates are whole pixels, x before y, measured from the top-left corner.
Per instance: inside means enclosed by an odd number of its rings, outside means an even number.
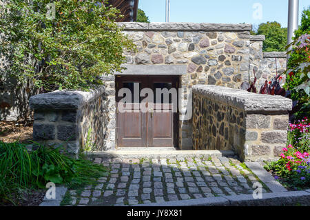
[[[309,38],[301,38],[307,36],[304,34],[308,34],[308,36],[310,34],[310,7],[302,12],[301,25],[295,32],[296,37],[294,37],[292,43],[293,50],[291,50],[287,63],[285,88],[291,90],[291,99],[298,101],[296,111],[293,112],[296,119],[302,119],[302,117],[309,115],[310,111],[310,42]],[[303,43],[303,45],[300,46],[300,43]]]

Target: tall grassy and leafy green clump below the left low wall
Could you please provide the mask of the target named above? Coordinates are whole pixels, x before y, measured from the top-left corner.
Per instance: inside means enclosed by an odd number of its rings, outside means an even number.
[[[45,188],[49,181],[65,183],[74,176],[74,161],[59,149],[39,146],[28,152],[21,143],[0,142],[0,196],[10,198],[12,192],[25,188]]]

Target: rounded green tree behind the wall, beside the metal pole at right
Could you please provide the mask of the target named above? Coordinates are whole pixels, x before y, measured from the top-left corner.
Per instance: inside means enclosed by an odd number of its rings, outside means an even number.
[[[285,46],[287,46],[287,28],[281,28],[280,23],[276,21],[260,23],[256,34],[263,34],[266,37],[262,44],[264,52],[285,51]]]

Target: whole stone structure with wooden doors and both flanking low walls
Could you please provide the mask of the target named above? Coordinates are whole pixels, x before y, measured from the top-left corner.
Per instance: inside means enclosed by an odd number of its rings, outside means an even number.
[[[277,156],[291,101],[238,88],[254,79],[254,71],[259,87],[284,72],[285,53],[262,52],[265,37],[251,36],[249,24],[119,25],[137,46],[124,53],[126,69],[103,76],[105,86],[92,92],[32,97],[34,139],[65,144],[74,154],[81,148],[170,147],[234,150],[244,160]],[[118,92],[134,91],[134,83],[153,91],[176,88],[178,110],[168,102],[167,112],[159,112],[158,105],[121,113]]]

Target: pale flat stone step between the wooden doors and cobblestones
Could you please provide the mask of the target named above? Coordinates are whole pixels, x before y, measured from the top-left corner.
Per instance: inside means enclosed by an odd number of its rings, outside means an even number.
[[[97,152],[85,152],[89,157],[108,157],[108,158],[149,158],[156,159],[158,157],[164,158],[182,158],[182,157],[229,157],[234,156],[235,153],[231,150],[169,150],[167,148],[159,149],[121,149],[108,150]]]

